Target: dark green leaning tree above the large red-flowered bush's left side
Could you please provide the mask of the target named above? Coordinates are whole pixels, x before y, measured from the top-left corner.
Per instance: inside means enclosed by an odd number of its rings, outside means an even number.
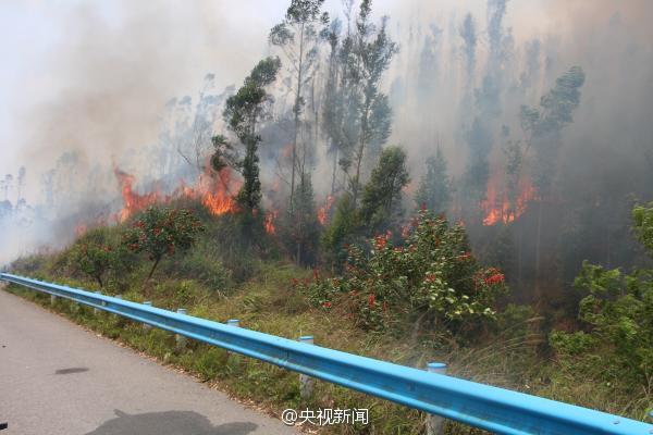
[[[406,152],[401,147],[384,149],[362,192],[360,216],[368,234],[390,228],[402,215],[402,188],[409,182]]]

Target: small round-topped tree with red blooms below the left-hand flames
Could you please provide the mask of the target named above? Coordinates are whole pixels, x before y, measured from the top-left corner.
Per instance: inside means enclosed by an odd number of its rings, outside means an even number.
[[[152,262],[149,279],[164,256],[187,251],[204,229],[189,210],[150,207],[125,233],[124,244],[132,252],[148,256]]]

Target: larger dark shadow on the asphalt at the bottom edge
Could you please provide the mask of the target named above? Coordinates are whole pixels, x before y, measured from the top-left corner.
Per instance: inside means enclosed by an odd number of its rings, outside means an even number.
[[[127,414],[115,410],[115,419],[86,435],[246,435],[258,426],[234,422],[213,426],[209,419],[193,411]]]

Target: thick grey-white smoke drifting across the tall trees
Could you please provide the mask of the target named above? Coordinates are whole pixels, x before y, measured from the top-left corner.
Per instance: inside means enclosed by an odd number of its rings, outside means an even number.
[[[209,55],[195,36],[189,48],[159,47],[148,39],[158,35],[146,18],[151,11],[122,4],[126,22],[147,23],[123,28],[124,37],[161,72],[130,50],[84,61],[66,52],[71,64],[62,71],[77,62],[72,80],[82,83],[83,75],[84,86],[71,86],[35,112],[25,159],[0,177],[2,225],[36,222],[34,238],[66,239],[78,223],[111,223],[124,206],[116,169],[134,175],[135,194],[171,196],[183,190],[180,184],[210,178],[210,138],[231,130],[241,142],[232,151],[243,151],[233,165],[243,176],[232,178],[243,184],[225,184],[225,195],[270,212],[259,216],[263,225],[272,231],[276,223],[288,254],[303,264],[335,261],[344,245],[367,235],[361,228],[377,213],[370,211],[369,183],[394,146],[405,153],[406,179],[412,182],[399,183],[406,185],[393,194],[392,207],[411,211],[424,203],[463,221],[479,258],[506,264],[506,279],[525,299],[563,294],[586,258],[645,261],[625,236],[631,198],[651,195],[645,84],[653,53],[642,24],[651,5],[601,2],[587,14],[575,4],[568,20],[552,3],[539,7],[538,23],[522,5],[503,0],[286,7],[270,7],[274,13],[262,28],[272,32],[260,32],[245,61],[233,52]],[[163,9],[156,17],[174,32],[176,25],[190,27],[186,15],[173,15]],[[73,38],[104,44],[114,37],[102,17],[93,20],[97,28],[81,28]],[[177,82],[188,82],[183,74],[160,67],[165,62],[158,59],[184,51],[210,59],[193,78],[199,91],[188,95],[175,91]],[[239,94],[233,84],[275,53],[281,66],[266,85],[274,100],[268,116],[230,125],[238,109],[221,115]],[[232,69],[231,59],[238,65]],[[626,74],[617,64],[633,67]],[[137,97],[130,96],[146,82]],[[147,113],[134,109],[139,107]],[[42,144],[44,158],[33,158]],[[402,213],[390,214],[392,224],[379,221],[366,229],[401,232]]]

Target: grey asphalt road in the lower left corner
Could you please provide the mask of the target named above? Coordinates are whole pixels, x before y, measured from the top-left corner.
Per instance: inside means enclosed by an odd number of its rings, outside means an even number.
[[[0,435],[297,434],[0,289]]]

